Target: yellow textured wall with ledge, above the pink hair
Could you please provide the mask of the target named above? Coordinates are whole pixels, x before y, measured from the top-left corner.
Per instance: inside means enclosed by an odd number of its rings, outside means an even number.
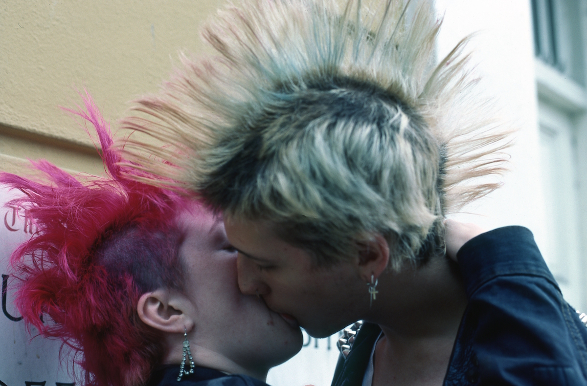
[[[76,120],[59,109],[92,93],[116,120],[128,101],[154,92],[178,52],[203,50],[198,27],[221,0],[4,0],[0,5],[0,170],[26,158],[100,174]]]

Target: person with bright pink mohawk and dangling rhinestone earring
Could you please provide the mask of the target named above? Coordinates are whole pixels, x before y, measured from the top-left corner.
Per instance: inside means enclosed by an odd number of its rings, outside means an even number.
[[[32,162],[39,178],[0,174],[23,193],[9,205],[36,222],[11,255],[29,330],[71,349],[82,385],[265,385],[300,350],[299,327],[239,292],[221,216],[129,178],[146,173],[120,166],[108,124],[84,102],[72,112],[95,127],[107,177],[46,161]]]

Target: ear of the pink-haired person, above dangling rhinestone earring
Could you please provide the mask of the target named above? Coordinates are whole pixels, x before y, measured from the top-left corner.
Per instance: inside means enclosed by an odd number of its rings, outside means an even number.
[[[195,307],[183,294],[168,289],[143,293],[137,303],[140,320],[168,333],[190,331],[195,323]]]

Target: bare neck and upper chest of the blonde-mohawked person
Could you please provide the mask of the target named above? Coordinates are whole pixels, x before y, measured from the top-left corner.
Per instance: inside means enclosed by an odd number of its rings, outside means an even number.
[[[386,273],[379,283],[366,318],[384,333],[376,347],[373,385],[441,384],[467,306],[456,266],[433,258],[419,268]]]

